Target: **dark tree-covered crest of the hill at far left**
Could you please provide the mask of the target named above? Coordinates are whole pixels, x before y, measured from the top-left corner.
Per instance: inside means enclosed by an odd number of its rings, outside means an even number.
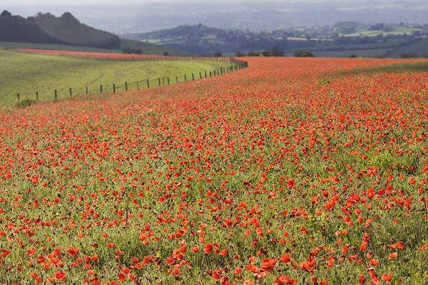
[[[94,48],[120,48],[121,39],[113,33],[81,24],[70,13],[61,17],[37,14],[29,18],[0,14],[0,41],[56,43]]]

